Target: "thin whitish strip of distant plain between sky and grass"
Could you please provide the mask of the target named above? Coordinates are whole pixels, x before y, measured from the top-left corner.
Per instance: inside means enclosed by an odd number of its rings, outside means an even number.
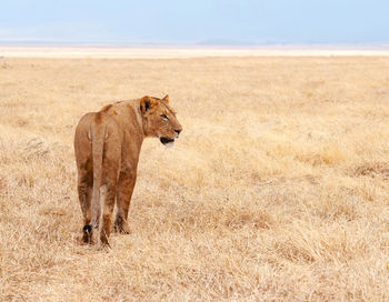
[[[0,56],[11,58],[163,59],[196,57],[330,57],[389,56],[389,46],[269,46],[269,47],[90,47],[1,46]]]

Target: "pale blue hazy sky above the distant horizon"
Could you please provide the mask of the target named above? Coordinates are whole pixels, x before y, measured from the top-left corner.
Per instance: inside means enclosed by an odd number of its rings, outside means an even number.
[[[389,0],[2,0],[0,41],[388,43]]]

